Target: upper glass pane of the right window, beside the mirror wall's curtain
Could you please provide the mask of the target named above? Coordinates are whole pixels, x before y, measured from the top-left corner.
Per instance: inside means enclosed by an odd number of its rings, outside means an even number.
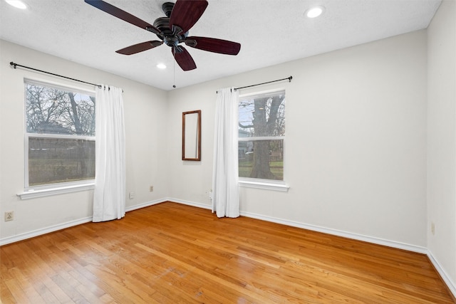
[[[285,91],[239,98],[239,137],[285,135]]]

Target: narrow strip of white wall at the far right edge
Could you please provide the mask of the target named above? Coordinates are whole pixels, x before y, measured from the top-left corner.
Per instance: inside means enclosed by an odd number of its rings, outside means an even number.
[[[427,43],[427,248],[456,295],[455,1],[442,1],[427,29]]]

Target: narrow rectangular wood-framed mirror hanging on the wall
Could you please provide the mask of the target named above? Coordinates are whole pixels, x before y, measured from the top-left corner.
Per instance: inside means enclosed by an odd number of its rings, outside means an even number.
[[[182,160],[201,160],[201,110],[182,112]]]

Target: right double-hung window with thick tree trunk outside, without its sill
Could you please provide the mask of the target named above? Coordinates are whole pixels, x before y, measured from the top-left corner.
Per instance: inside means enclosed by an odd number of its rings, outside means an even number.
[[[239,177],[284,180],[285,91],[239,96]]]

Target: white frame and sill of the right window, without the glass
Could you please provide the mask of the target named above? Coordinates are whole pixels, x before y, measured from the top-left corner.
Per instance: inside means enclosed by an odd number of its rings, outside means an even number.
[[[261,95],[269,95],[269,94],[274,94],[274,93],[279,93],[279,92],[284,92],[286,94],[285,88],[276,88],[272,90],[262,90],[262,91],[257,91],[257,92],[252,92],[252,93],[246,93],[246,94],[239,94],[238,98],[238,108],[239,108],[239,103],[242,99],[246,99],[250,96],[261,96]],[[238,110],[239,112],[239,110]],[[239,115],[238,115],[238,125],[239,125]],[[251,142],[251,141],[258,141],[258,140],[282,140],[283,141],[283,147],[284,151],[286,150],[286,140],[285,140],[285,135],[283,136],[261,136],[261,137],[239,137],[239,132],[237,135],[237,142],[239,145],[239,142]],[[284,164],[283,164],[283,169],[285,169],[285,157],[284,157]],[[279,191],[279,192],[288,192],[289,190],[289,184],[286,183],[286,174],[284,170],[284,177],[282,180],[277,180],[277,179],[259,179],[259,178],[252,178],[252,177],[239,177],[238,174],[238,183],[240,187],[247,187],[247,188],[256,188],[256,189],[266,189],[266,190],[274,190],[274,191]]]

